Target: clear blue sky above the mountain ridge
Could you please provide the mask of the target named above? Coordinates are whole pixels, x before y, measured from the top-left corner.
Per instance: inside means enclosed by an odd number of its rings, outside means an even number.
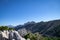
[[[0,25],[60,19],[59,0],[0,0]]]

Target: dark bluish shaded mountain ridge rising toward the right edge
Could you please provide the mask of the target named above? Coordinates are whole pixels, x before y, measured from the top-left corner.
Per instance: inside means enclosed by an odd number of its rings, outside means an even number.
[[[24,25],[18,25],[15,27],[16,30],[25,28],[27,31],[32,33],[39,32],[45,36],[58,36],[60,37],[60,20],[52,20],[48,22],[27,22]]]

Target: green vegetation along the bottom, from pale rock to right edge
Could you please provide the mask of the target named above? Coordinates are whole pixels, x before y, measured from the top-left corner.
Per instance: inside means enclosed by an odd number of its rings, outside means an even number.
[[[44,37],[39,33],[28,33],[24,36],[25,39],[29,38],[30,40],[60,40],[60,37]]]

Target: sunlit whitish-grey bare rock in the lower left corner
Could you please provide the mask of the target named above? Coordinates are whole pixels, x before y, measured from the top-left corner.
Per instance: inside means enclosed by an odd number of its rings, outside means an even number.
[[[0,40],[25,40],[17,31],[0,31]]]

